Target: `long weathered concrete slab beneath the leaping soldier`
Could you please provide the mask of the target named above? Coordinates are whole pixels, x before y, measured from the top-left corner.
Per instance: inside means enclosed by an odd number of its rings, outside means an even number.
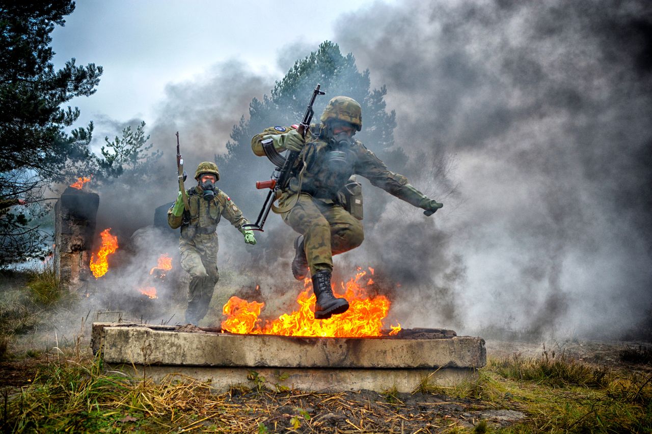
[[[454,336],[449,330],[431,333],[445,336],[435,339],[295,338],[179,330],[184,329],[95,323],[93,348],[101,349],[107,366],[134,377],[160,380],[181,373],[211,381],[220,390],[234,384],[252,386],[254,375],[264,377],[268,386],[298,390],[411,392],[424,381],[452,386],[472,380],[486,363],[482,338]]]

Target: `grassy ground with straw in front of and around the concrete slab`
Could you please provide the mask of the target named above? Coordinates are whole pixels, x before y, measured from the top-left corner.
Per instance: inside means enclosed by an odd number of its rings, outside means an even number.
[[[179,375],[153,383],[106,371],[87,347],[83,318],[78,334],[30,347],[35,341],[27,337],[65,315],[63,306],[74,300],[62,300],[47,270],[7,281],[12,284],[0,298],[0,335],[7,340],[0,375],[20,375],[0,388],[4,432],[652,432],[647,345],[627,347],[619,354],[623,363],[610,366],[544,347],[529,356],[490,352],[477,381],[456,388],[424,381],[411,394],[279,390],[255,371],[246,386],[218,394]]]

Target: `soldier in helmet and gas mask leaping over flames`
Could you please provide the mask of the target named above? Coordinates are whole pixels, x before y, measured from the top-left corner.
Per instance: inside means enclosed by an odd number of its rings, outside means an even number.
[[[323,94],[319,85],[315,92]],[[308,112],[312,111],[312,102],[314,96]],[[424,209],[428,216],[443,204],[426,197],[403,175],[389,171],[363,143],[353,139],[355,132],[362,128],[362,109],[355,100],[347,96],[334,97],[320,121],[321,124],[312,126],[306,134],[302,134],[303,123],[299,128],[296,125],[267,128],[253,137],[252,150],[268,158],[284,150],[290,154],[298,152],[289,170],[289,182],[277,187],[275,192],[278,207],[271,208],[301,234],[295,240],[292,273],[297,280],[303,280],[310,270],[317,297],[315,318],[327,319],[349,308],[348,302],[334,297],[331,289],[333,255],[356,248],[364,239],[363,225],[359,221],[361,207],[355,212],[355,199],[353,203],[343,200],[346,186],[351,184],[351,175],[362,175],[374,186]],[[359,215],[353,216],[349,210]]]

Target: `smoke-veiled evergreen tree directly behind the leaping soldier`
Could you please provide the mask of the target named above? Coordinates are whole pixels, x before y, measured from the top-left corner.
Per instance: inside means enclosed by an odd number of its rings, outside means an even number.
[[[385,111],[387,89],[383,86],[370,90],[369,71],[359,72],[353,54],[342,55],[337,44],[325,41],[317,51],[297,60],[286,76],[276,81],[270,96],[252,100],[249,119],[242,117],[233,127],[231,140],[226,145],[228,152],[215,156],[216,164],[224,173],[220,187],[237,198],[248,218],[256,218],[264,198],[262,193],[251,194],[254,182],[267,179],[274,169],[267,158],[254,156],[250,145],[252,137],[269,126],[299,123],[317,83],[326,94],[316,99],[313,123],[319,123],[321,112],[333,96],[350,96],[363,109],[363,130],[355,137],[369,145],[394,171],[400,171],[406,164],[404,152],[392,149],[396,115],[394,111]]]

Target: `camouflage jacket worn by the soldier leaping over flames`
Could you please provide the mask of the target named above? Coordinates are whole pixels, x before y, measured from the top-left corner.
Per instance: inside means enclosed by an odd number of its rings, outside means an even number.
[[[265,155],[261,144],[264,136],[283,134],[290,128],[274,126],[254,136],[252,139],[254,154]],[[279,147],[277,151],[280,152],[283,149]],[[344,158],[334,161],[331,151],[344,152]],[[286,203],[291,195],[297,194],[299,188],[302,193],[308,193],[315,199],[336,201],[338,191],[344,187],[351,175],[361,175],[372,185],[382,188],[389,194],[403,199],[415,207],[420,206],[422,197],[411,194],[408,189],[404,188],[408,184],[408,179],[389,171],[374,152],[366,149],[361,141],[354,140],[351,147],[333,149],[328,141],[312,135],[306,136],[306,145],[297,158],[288,188],[282,192],[279,203]]]

